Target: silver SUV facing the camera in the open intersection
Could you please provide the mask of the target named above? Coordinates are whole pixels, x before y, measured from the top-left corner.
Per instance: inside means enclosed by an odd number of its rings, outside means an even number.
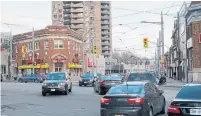
[[[47,79],[42,83],[42,95],[47,93],[64,93],[68,95],[72,91],[72,81],[66,72],[48,73]]]

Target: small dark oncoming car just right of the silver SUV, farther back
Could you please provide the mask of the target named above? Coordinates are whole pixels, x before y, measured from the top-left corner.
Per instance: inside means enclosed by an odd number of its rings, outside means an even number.
[[[91,85],[93,86],[93,82],[94,82],[94,74],[92,73],[85,73],[84,75],[82,75],[80,77],[79,80],[79,86],[87,86],[87,85]]]

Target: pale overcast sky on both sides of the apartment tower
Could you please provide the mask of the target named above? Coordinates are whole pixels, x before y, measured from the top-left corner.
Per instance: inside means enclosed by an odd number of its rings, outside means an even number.
[[[139,56],[153,57],[161,26],[143,24],[141,21],[160,22],[164,14],[165,51],[171,46],[172,30],[177,12],[183,1],[112,1],[112,44],[113,49],[129,50]],[[2,1],[1,31],[13,34],[28,32],[32,27],[42,29],[51,25],[51,1]],[[150,11],[153,13],[139,12]],[[2,24],[17,24],[10,28]],[[120,25],[122,24],[122,25]],[[132,30],[132,28],[135,28]],[[124,33],[124,34],[123,34]],[[143,38],[148,37],[149,48],[143,49]],[[132,48],[132,49],[131,49]]]

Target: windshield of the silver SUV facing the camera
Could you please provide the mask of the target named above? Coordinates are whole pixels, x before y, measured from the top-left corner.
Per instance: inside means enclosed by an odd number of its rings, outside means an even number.
[[[49,73],[47,80],[65,80],[65,73]]]

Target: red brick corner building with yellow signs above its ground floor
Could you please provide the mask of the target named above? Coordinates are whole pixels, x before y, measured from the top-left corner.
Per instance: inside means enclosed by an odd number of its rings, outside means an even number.
[[[71,70],[79,74],[83,59],[81,35],[66,26],[47,26],[13,36],[13,54],[19,73],[47,73]],[[34,60],[33,60],[34,54]],[[33,62],[34,61],[34,62]]]

